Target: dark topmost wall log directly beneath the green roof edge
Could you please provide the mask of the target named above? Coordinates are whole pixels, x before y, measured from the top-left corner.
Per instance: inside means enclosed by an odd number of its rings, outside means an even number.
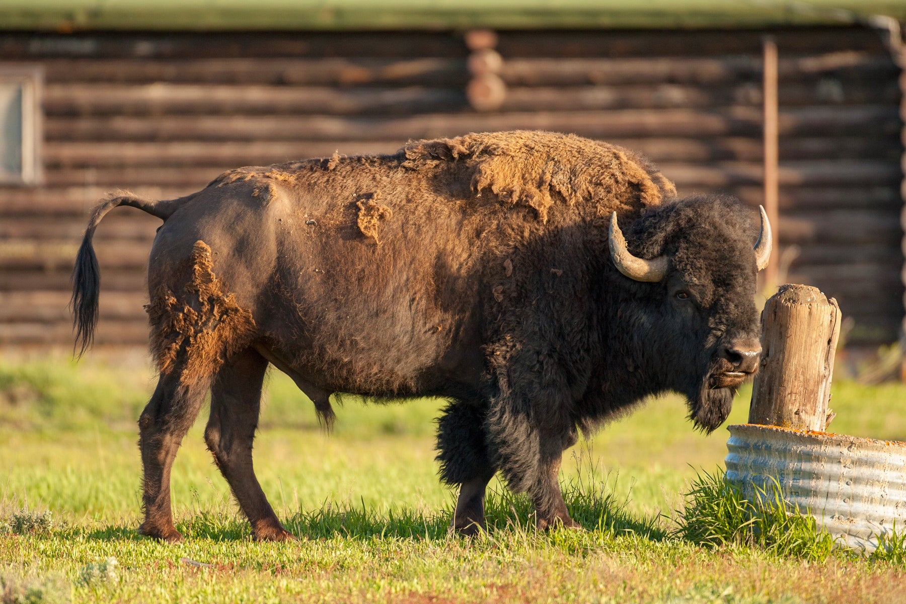
[[[788,53],[868,51],[887,53],[869,28],[776,28],[777,43]],[[638,57],[702,56],[757,53],[761,32],[663,30],[648,31],[502,31],[496,47],[505,56]],[[199,37],[203,43],[199,43]],[[78,55],[92,58],[191,59],[196,57],[276,56],[465,56],[467,45],[457,34],[439,32],[293,32],[280,33],[75,33],[6,32],[0,54],[8,59],[34,60]]]

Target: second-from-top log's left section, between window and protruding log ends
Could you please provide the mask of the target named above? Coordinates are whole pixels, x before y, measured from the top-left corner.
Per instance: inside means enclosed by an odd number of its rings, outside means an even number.
[[[156,81],[285,84],[296,86],[419,85],[463,86],[466,62],[458,58],[418,59],[60,59],[43,63],[48,83]]]

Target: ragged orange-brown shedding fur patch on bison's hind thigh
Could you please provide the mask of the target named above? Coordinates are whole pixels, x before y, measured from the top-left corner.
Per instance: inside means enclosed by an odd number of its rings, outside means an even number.
[[[182,292],[164,288],[145,305],[158,369],[169,374],[179,365],[183,384],[214,375],[255,335],[252,313],[240,307],[217,279],[211,248],[195,242],[188,263],[191,279]]]

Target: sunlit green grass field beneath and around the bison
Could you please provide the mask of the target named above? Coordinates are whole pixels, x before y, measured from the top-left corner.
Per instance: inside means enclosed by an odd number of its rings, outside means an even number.
[[[173,469],[187,541],[138,536],[135,420],[150,370],[99,360],[0,360],[0,602],[26,601],[906,601],[906,564],[835,552],[808,560],[675,530],[682,494],[726,455],[661,398],[582,442],[564,487],[587,532],[537,533],[524,498],[494,485],[494,528],[448,535],[455,494],[433,460],[440,401],[347,398],[333,434],[288,379],[270,379],[258,476],[295,543],[257,543],[201,437]],[[743,392],[730,417],[747,416]],[[837,384],[833,431],[906,440],[906,387]],[[26,512],[22,515],[22,510]],[[49,516],[40,514],[49,511]],[[36,525],[24,530],[16,519]],[[115,563],[107,563],[115,559]],[[30,591],[29,591],[30,590]],[[17,595],[18,594],[18,595]],[[30,594],[30,595],[28,595]]]

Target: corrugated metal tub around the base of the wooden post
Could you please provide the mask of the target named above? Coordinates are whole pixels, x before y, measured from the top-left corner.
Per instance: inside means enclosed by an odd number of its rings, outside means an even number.
[[[744,424],[728,427],[727,479],[747,497],[773,476],[786,501],[808,509],[853,549],[906,531],[906,443]]]

